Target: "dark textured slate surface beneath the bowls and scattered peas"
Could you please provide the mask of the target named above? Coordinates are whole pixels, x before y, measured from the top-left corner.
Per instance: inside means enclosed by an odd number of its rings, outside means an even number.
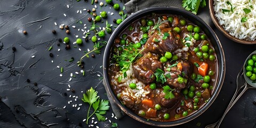
[[[119,1],[114,1],[114,3],[119,3]],[[102,10],[114,12],[114,15],[108,15],[107,20],[116,26],[112,20],[120,18],[118,11],[113,10],[110,5],[103,6],[102,9],[99,3],[97,6],[97,14]],[[83,9],[91,10],[93,7],[91,1],[87,3],[74,0],[0,1],[0,127],[79,127],[79,123],[82,123],[83,127],[88,127],[83,122],[89,108],[81,101],[83,92],[93,86],[99,92],[101,99],[107,99],[101,78],[103,54],[84,60],[85,76],[82,76],[81,68],[77,67],[76,61],[82,57],[83,51],[93,49],[93,43],[89,41],[88,43],[84,42],[82,46],[77,46],[73,42],[76,39],[75,35],[80,38],[83,36],[81,29],[84,26],[76,21],[81,20],[86,23],[88,29],[91,25],[87,21],[90,14]],[[77,10],[82,10],[82,14],[77,13]],[[209,13],[207,8],[204,11]],[[64,17],[63,13],[67,17]],[[106,22],[106,19],[102,21]],[[57,22],[58,25],[55,26],[54,22]],[[105,22],[99,23],[99,25],[105,27]],[[65,33],[65,30],[59,29],[61,24],[70,27],[69,35]],[[73,25],[76,28],[72,28]],[[77,30],[78,28],[80,31]],[[57,31],[57,34],[52,34],[53,29]],[[226,55],[225,82],[217,99],[205,113],[193,121],[177,127],[204,127],[217,121],[234,94],[239,69],[247,55],[256,50],[256,45],[234,43],[223,36],[217,28],[213,27],[213,29],[217,33]],[[28,34],[24,35],[23,30],[26,30]],[[65,50],[66,45],[63,43],[57,46],[57,39],[65,36],[70,38],[70,50]],[[107,41],[108,38],[109,34],[104,40]],[[14,53],[13,46],[17,49]],[[49,46],[53,46],[51,51],[47,50]],[[77,48],[73,46],[77,46]],[[78,50],[79,48],[81,51]],[[53,58],[49,56],[50,53],[53,53]],[[33,55],[35,58],[31,58]],[[65,61],[71,57],[75,58],[74,62]],[[64,69],[62,77],[59,76],[60,69],[57,66]],[[75,74],[76,71],[79,74]],[[72,77],[71,81],[69,81],[70,73],[76,75],[76,77]],[[30,83],[26,82],[28,78]],[[34,85],[35,82],[38,84],[37,86]],[[70,90],[74,89],[75,93],[67,91],[68,84],[71,86]],[[64,95],[65,92],[67,96]],[[252,103],[256,101],[255,94],[256,90],[248,90],[227,114],[221,127],[255,127],[256,106]],[[78,97],[77,101],[73,96]],[[68,104],[68,101],[72,102]],[[82,103],[82,106],[78,106],[79,103]],[[77,107],[72,107],[76,104]],[[63,109],[64,106],[66,106],[65,109]],[[78,107],[80,110],[77,110]],[[112,122],[118,123],[119,127],[154,127],[139,123],[129,116],[116,120],[111,117],[112,113],[113,110],[110,109],[106,117]],[[95,121],[97,119],[94,119]],[[200,126],[196,126],[198,122],[201,123]],[[92,124],[91,121],[89,124]],[[93,125],[94,127],[96,125],[99,127],[111,126],[109,121],[93,123]]]

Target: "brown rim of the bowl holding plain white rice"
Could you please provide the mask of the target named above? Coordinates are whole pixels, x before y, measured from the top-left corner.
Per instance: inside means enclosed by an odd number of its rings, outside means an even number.
[[[241,43],[241,44],[256,44],[256,41],[247,41],[244,39],[236,38],[235,36],[230,35],[219,23],[217,18],[215,17],[215,12],[213,10],[213,2],[214,0],[209,0],[209,9],[210,9],[210,16],[214,23],[214,25],[221,31],[223,35],[225,35],[227,38],[231,39],[234,42]]]

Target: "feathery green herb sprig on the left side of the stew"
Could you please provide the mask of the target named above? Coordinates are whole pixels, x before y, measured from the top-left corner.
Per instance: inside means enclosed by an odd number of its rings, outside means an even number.
[[[126,77],[126,71],[130,69],[131,63],[137,58],[142,57],[142,54],[140,54],[142,50],[137,49],[134,45],[130,44],[127,46],[124,46],[123,52],[120,55],[114,54],[115,59],[118,59],[117,62],[119,65],[119,69],[124,74],[124,77]]]

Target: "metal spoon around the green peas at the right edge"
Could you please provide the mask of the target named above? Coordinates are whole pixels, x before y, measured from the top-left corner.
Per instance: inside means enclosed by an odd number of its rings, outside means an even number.
[[[245,60],[243,68],[241,69],[241,71],[239,72],[237,79],[236,79],[236,85],[237,85],[237,89],[236,92],[233,96],[233,98],[231,99],[231,101],[229,102],[229,105],[227,107],[227,109],[225,110],[223,116],[221,117],[221,119],[214,123],[214,124],[210,124],[207,125],[205,128],[210,128],[210,127],[219,127],[223,118],[226,116],[226,114],[228,113],[228,111],[231,109],[231,107],[233,107],[235,105],[235,103],[238,101],[238,99],[244,94],[244,92],[248,89],[256,89],[256,83],[252,83],[251,79],[249,77],[247,77],[246,74],[246,63],[247,61],[252,58],[252,55],[256,54],[256,51],[252,52]],[[239,90],[241,90],[241,93],[238,94]],[[238,94],[238,95],[237,95]]]

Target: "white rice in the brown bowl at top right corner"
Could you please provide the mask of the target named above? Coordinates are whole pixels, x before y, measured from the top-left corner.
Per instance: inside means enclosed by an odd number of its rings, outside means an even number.
[[[236,38],[254,41],[256,39],[256,1],[229,0],[234,12],[223,13],[222,9],[231,10],[227,2],[228,0],[214,0],[213,3],[215,17],[220,25]],[[243,9],[250,9],[251,12],[246,14]],[[241,22],[243,17],[247,18],[246,22]]]

